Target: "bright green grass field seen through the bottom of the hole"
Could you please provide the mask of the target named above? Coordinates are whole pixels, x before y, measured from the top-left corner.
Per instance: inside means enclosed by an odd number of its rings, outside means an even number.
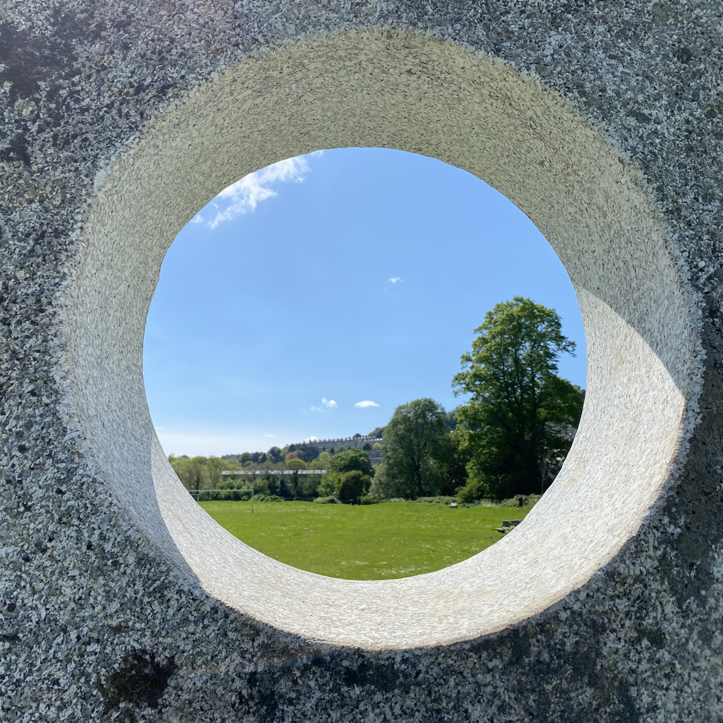
[[[428,502],[319,505],[201,502],[231,534],[301,570],[352,580],[403,578],[446,568],[495,544],[503,520],[529,508],[452,509]]]

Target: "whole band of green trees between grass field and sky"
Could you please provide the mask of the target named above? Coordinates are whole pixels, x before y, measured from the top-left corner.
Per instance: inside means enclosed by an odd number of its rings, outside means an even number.
[[[580,421],[584,390],[557,375],[560,356],[574,354],[575,343],[562,334],[555,309],[520,296],[487,312],[475,333],[452,382],[455,395],[469,395],[466,402],[450,412],[429,398],[398,406],[387,426],[371,433],[384,441],[376,468],[364,450],[320,452],[312,445],[223,459],[172,457],[171,464],[189,489],[238,487],[223,469],[293,469],[244,480],[260,494],[286,499],[457,495],[472,502],[539,494],[559,471]],[[298,474],[307,468],[329,471]]]

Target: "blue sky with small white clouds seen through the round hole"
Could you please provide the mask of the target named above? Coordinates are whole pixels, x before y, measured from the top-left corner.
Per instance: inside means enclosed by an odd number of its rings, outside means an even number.
[[[221,455],[367,434],[395,406],[461,403],[450,382],[497,302],[555,307],[585,385],[572,284],[483,181],[424,156],[325,150],[224,190],[176,237],[148,315],[144,375],[166,453]]]

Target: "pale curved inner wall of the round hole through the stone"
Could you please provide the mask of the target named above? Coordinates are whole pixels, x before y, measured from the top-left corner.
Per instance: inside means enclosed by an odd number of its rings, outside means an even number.
[[[406,150],[487,181],[549,240],[585,325],[585,409],[555,485],[514,535],[426,575],[343,580],[261,555],[190,498],[148,413],[142,342],[171,242],[236,179],[325,147]],[[680,458],[693,307],[638,168],[555,93],[452,43],[353,31],[228,67],[124,153],[95,179],[68,269],[64,411],[114,523],[189,589],[305,639],[435,646],[543,612],[641,529]]]

